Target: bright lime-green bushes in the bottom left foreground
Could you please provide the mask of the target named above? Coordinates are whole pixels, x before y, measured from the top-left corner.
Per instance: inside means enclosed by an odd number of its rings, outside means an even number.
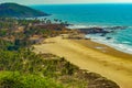
[[[18,72],[0,73],[0,88],[63,88],[53,79],[35,75],[23,75]]]

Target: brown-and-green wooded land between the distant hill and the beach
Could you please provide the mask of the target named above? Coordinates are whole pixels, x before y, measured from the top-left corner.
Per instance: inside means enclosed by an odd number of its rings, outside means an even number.
[[[64,25],[48,24],[45,23],[46,21],[48,20],[0,18],[0,38],[11,43],[7,46],[8,50],[18,50],[65,32],[63,31]]]

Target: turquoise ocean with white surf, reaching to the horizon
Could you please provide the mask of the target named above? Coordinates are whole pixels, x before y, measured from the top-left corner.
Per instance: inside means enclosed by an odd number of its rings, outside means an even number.
[[[48,19],[59,19],[74,24],[74,28],[86,26],[128,26],[106,36],[88,34],[92,41],[107,44],[116,50],[132,54],[132,4],[43,4],[30,6],[52,14]],[[112,37],[107,40],[106,37]]]

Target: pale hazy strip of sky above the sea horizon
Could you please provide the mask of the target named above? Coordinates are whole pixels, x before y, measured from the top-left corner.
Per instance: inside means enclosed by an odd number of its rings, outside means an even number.
[[[61,4],[61,3],[123,3],[132,0],[0,0],[3,2],[16,2],[21,4]]]

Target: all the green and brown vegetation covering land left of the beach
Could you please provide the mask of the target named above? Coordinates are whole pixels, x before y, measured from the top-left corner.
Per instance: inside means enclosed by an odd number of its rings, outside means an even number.
[[[0,88],[119,88],[64,57],[35,54],[33,44],[72,32],[62,23],[46,21],[0,18]]]

